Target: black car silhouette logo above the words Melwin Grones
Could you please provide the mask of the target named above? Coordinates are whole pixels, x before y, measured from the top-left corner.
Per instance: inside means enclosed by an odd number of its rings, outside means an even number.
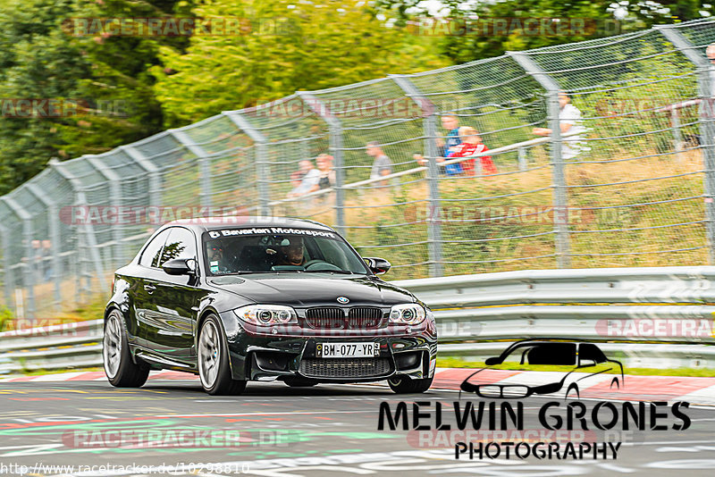
[[[480,372],[489,369],[556,372],[543,384],[516,381],[499,384],[480,380]],[[606,380],[610,381],[610,389],[623,388],[623,365],[607,358],[593,343],[526,339],[513,343],[500,356],[487,358],[484,368],[470,374],[459,388],[484,398],[523,399],[534,394],[565,391],[564,399],[574,395],[580,399],[580,389],[601,381],[603,373],[613,373],[613,378]]]

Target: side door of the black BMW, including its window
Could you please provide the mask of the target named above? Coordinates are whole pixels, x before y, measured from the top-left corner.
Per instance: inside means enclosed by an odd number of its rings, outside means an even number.
[[[193,352],[198,302],[203,295],[196,275],[169,275],[161,266],[175,258],[197,260],[194,232],[171,227],[156,266],[147,270],[142,306],[144,338],[156,354],[183,364],[195,361]]]

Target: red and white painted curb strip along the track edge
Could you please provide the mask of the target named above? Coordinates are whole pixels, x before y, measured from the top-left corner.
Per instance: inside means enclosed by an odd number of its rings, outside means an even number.
[[[475,369],[437,368],[433,389],[458,390],[459,385]],[[580,374],[575,373],[576,379]],[[560,372],[525,372],[484,370],[479,373],[479,382],[486,384],[527,384],[538,385],[559,381]],[[681,376],[631,376],[626,375],[621,389],[611,389],[613,374],[601,374],[589,379],[589,386],[580,389],[585,399],[615,399],[634,401],[687,401],[691,404],[715,406],[715,378],[688,378]],[[151,381],[198,381],[198,376],[178,371],[153,371]],[[105,372],[60,372],[41,376],[8,376],[0,382],[62,382],[62,381],[106,381]],[[560,396],[562,397],[562,396]]]

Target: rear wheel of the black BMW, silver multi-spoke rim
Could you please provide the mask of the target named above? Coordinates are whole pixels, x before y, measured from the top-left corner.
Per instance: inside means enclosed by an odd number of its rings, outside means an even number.
[[[149,367],[132,361],[124,319],[117,310],[105,320],[102,361],[107,380],[116,388],[140,388],[147,382]]]

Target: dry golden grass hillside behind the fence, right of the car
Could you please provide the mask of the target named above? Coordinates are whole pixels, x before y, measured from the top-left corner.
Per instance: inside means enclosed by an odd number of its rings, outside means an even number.
[[[611,158],[634,152],[609,152],[609,157],[582,158],[593,163],[566,166],[571,266],[706,264],[700,151],[658,156],[644,148],[638,154],[655,156],[617,162]],[[393,280],[424,278],[432,218],[442,226],[445,274],[555,268],[546,151],[532,151],[526,172],[506,157],[494,160],[500,175],[441,176],[437,213],[426,199],[424,172],[405,176],[400,187],[347,191],[350,243],[364,256],[387,258]],[[334,224],[332,201],[288,203],[281,212]]]

